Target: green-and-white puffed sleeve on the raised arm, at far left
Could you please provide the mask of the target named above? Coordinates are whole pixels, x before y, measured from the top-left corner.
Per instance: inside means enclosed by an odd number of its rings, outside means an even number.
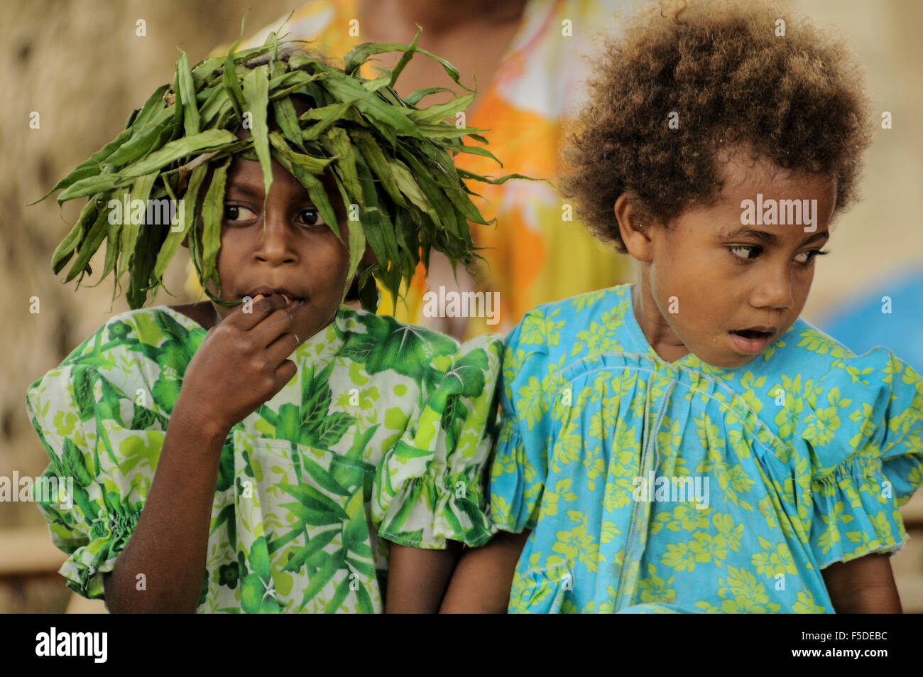
[[[54,545],[68,555],[60,573],[86,598],[104,597],[102,574],[113,570],[138,522],[165,435],[161,417],[102,376],[104,369],[66,360],[26,394],[51,459],[43,477],[66,487],[66,498],[38,505]]]

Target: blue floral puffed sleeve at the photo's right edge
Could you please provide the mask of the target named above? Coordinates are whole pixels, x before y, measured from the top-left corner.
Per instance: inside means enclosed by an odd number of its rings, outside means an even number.
[[[810,545],[821,568],[891,552],[898,507],[923,482],[923,382],[887,348],[842,357],[819,382],[795,439],[811,465]]]

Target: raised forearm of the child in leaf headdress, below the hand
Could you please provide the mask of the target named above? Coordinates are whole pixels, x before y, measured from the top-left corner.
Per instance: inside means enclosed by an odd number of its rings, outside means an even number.
[[[179,416],[178,405],[138,525],[113,571],[104,575],[113,613],[191,613],[201,598],[226,433]],[[141,590],[138,574],[144,574]]]

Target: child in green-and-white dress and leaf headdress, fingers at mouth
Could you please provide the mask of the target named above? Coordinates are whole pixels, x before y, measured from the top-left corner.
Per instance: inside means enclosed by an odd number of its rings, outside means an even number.
[[[191,69],[184,54],[55,187],[90,196],[55,272],[75,254],[67,279],[89,272],[103,236],[103,276],[130,271],[134,309],[27,400],[46,475],[73,481],[72,508],[42,504],[61,573],[110,611],[435,611],[460,544],[489,537],[502,343],[342,304],[357,279],[374,309],[370,275],[395,294],[431,248],[467,264],[466,219],[483,222],[450,104],[400,99],[401,65],[354,75],[393,48],[361,45],[345,71],[271,35]],[[173,227],[151,219],[174,198]],[[210,301],[141,308],[181,243]]]

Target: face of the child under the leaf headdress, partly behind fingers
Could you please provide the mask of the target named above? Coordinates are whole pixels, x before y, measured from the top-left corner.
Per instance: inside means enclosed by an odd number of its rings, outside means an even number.
[[[259,163],[236,156],[224,189],[217,261],[221,298],[253,297],[261,289],[264,294],[266,289],[285,294],[293,302],[293,332],[304,341],[327,326],[339,308],[349,253],[320,217],[306,188],[276,160],[266,200],[265,235],[263,196]],[[348,241],[345,220],[339,226],[343,241]],[[217,291],[212,283],[210,291]],[[295,306],[297,301],[303,304]],[[222,319],[234,310],[217,305],[215,309]]]

